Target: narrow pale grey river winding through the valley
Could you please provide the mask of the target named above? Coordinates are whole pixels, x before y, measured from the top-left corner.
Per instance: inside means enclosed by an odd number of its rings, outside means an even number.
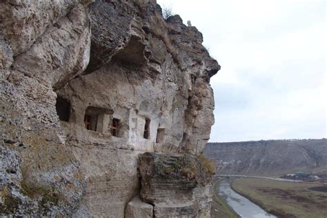
[[[230,188],[230,181],[228,179],[224,179],[220,182],[219,186],[217,186],[216,192],[225,199],[227,204],[235,210],[240,217],[275,217],[257,206],[257,204],[252,203],[252,201],[233,191],[232,188]]]

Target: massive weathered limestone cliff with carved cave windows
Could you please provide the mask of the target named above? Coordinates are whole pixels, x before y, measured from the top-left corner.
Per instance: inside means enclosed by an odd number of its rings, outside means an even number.
[[[220,66],[202,40],[154,0],[1,1],[0,215],[206,217],[210,179],[153,180],[171,199],[141,170],[208,141]]]

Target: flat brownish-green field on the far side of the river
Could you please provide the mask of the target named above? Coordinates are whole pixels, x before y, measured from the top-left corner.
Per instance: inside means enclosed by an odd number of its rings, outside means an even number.
[[[327,217],[326,184],[246,177],[235,179],[232,189],[279,217]]]

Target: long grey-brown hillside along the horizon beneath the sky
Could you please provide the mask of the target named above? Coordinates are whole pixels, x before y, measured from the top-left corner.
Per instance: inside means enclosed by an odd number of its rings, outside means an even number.
[[[204,155],[217,161],[219,174],[319,172],[327,169],[327,139],[207,143]]]

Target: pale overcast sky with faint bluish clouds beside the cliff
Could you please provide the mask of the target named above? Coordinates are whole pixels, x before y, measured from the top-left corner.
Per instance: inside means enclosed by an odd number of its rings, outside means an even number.
[[[190,20],[221,65],[210,141],[327,137],[326,1],[157,2]]]

